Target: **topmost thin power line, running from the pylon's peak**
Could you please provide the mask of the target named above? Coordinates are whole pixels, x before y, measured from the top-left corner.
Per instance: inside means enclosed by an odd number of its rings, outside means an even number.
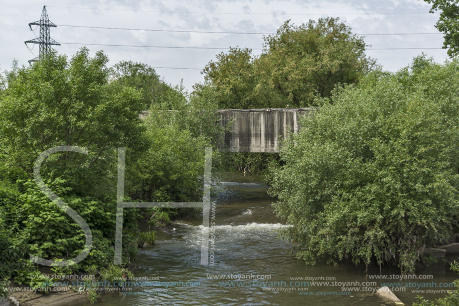
[[[187,11],[150,11],[150,10],[123,10],[123,9],[100,9],[100,8],[80,8],[80,7],[62,7],[48,6],[50,8],[77,9],[77,10],[95,10],[95,11],[120,11],[120,12],[144,12],[144,13],[166,13],[166,14],[209,14],[209,15],[406,15],[406,14],[430,14],[429,12],[382,12],[382,13],[238,13],[238,12],[187,12]]]

